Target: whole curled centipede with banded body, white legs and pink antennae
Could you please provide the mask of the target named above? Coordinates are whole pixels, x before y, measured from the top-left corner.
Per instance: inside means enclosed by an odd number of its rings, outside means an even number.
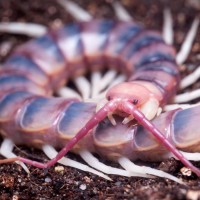
[[[1,64],[0,154],[5,159],[0,164],[17,162],[29,172],[26,164],[49,168],[59,162],[108,180],[108,174],[160,176],[183,184],[166,172],[134,164],[174,156],[200,176],[189,161],[199,157],[200,107],[161,113],[179,87],[193,83],[189,76],[181,80],[179,66],[187,59],[199,19],[176,53],[168,9],[163,36],[136,23],[119,2],[112,3],[117,20],[93,19],[71,1],[58,2],[77,21],[56,30],[29,26],[27,34],[37,37],[16,47]],[[2,23],[0,29],[23,32],[23,26]],[[92,85],[84,77],[88,73]],[[66,86],[72,81],[79,92]],[[40,163],[12,152],[14,145],[24,144],[42,149],[50,160]],[[67,158],[68,151],[88,165]],[[101,163],[93,153],[124,169]]]

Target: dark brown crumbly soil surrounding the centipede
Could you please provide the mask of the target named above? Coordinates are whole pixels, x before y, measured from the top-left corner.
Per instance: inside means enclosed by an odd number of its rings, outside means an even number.
[[[115,18],[111,7],[112,0],[76,0],[95,18]],[[131,16],[148,28],[162,31],[163,9],[172,10],[175,30],[175,47],[180,48],[185,34],[194,19],[198,16],[198,0],[122,0],[122,4]],[[194,4],[196,2],[196,4]],[[60,27],[74,19],[55,0],[7,0],[0,1],[0,21],[35,22],[50,28]],[[0,33],[0,62],[3,62],[12,49],[30,38],[25,35]],[[190,73],[200,63],[200,31],[195,39],[192,51],[182,66],[182,76]],[[187,68],[186,68],[187,66]],[[199,83],[191,89],[199,88]],[[25,146],[15,148],[15,153],[39,161],[47,161],[44,154],[37,149]],[[69,154],[74,160],[83,162],[78,156]],[[2,157],[1,157],[2,158]],[[101,161],[119,167],[118,164]],[[200,199],[200,179],[194,175],[181,173],[183,165],[174,159],[162,163],[142,163],[167,171],[181,178],[187,186],[173,181],[154,178],[126,178],[111,175],[113,181],[107,181],[93,174],[70,167],[57,171],[56,165],[50,169],[38,169],[28,166],[27,174],[17,164],[0,165],[0,199]],[[200,162],[194,163],[200,167]]]

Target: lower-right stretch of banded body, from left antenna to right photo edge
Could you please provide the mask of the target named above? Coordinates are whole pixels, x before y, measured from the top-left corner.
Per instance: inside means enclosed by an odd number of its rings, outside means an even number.
[[[200,106],[176,109],[162,113],[152,122],[177,149],[194,153],[183,152],[187,158],[199,160],[199,113]],[[114,127],[108,119],[103,121],[93,133],[96,152],[104,158],[116,161],[125,156],[131,160],[163,161],[173,156],[143,126],[124,125],[121,118],[116,120]]]

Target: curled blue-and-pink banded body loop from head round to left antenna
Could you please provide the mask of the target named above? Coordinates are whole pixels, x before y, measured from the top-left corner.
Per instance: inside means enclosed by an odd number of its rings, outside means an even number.
[[[58,147],[69,132],[75,134],[89,120],[96,105],[48,96],[70,77],[99,70],[105,64],[130,76],[125,89],[135,95],[139,106],[150,96],[156,96],[163,105],[179,83],[175,51],[157,32],[130,22],[71,24],[19,46],[1,66],[0,121],[4,136],[16,144],[49,143]],[[111,89],[109,98],[115,93],[124,95],[120,90]]]

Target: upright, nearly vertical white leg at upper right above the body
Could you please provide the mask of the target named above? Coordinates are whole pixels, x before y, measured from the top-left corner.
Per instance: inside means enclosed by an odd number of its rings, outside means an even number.
[[[163,12],[163,39],[167,44],[173,44],[174,31],[173,31],[173,18],[169,8],[165,8]]]

